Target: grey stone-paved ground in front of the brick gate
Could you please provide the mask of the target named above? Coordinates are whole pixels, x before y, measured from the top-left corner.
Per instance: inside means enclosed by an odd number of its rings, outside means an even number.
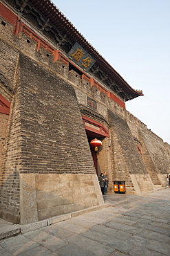
[[[0,240],[0,255],[170,255],[170,188],[107,194],[109,208]]]

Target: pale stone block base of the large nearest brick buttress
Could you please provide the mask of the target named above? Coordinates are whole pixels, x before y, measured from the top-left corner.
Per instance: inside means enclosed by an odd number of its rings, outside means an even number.
[[[96,174],[20,174],[21,224],[104,204]]]

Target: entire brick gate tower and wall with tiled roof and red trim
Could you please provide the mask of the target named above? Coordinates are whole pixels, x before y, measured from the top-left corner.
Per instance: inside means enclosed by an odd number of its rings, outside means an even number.
[[[32,223],[166,185],[170,146],[125,109],[142,96],[50,0],[0,0],[0,217]],[[103,145],[95,152],[90,141]]]

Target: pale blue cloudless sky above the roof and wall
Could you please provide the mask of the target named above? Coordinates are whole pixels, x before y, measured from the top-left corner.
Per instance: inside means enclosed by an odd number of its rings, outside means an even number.
[[[170,0],[53,0],[105,60],[144,96],[127,111],[170,144]]]

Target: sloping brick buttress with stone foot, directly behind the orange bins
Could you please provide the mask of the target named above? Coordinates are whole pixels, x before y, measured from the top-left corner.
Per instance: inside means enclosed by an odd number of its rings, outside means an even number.
[[[109,111],[109,119],[112,157],[114,158],[112,180],[125,181],[126,191],[130,193],[136,192],[134,181],[138,184],[140,192],[147,192],[153,189],[151,180],[148,179],[147,168],[126,120],[113,111]],[[134,179],[131,179],[131,176],[134,176]]]

